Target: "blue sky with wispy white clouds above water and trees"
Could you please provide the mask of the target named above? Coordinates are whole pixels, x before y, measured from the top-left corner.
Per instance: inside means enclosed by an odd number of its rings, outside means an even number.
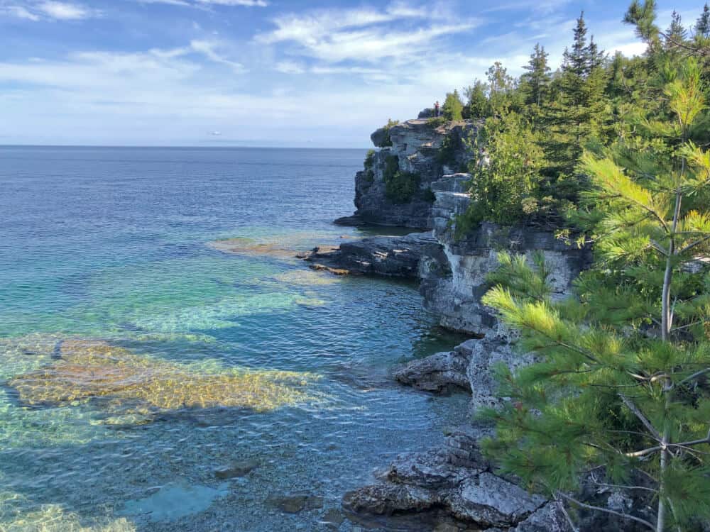
[[[366,148],[495,61],[553,67],[584,11],[640,54],[613,0],[0,0],[0,144]],[[701,1],[658,0],[692,26]]]

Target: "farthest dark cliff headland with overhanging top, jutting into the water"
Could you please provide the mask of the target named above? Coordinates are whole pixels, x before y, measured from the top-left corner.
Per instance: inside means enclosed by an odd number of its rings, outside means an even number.
[[[409,120],[371,135],[381,148],[355,177],[356,218],[365,223],[431,229],[432,183],[465,165],[470,121]],[[390,145],[391,144],[391,145]],[[409,189],[410,187],[410,189]]]

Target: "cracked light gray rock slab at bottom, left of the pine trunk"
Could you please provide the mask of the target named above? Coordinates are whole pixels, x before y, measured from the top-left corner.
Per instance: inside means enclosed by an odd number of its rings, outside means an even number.
[[[528,494],[501,477],[481,473],[476,478],[464,481],[447,501],[452,514],[458,519],[486,526],[511,526],[540,508],[545,500]]]

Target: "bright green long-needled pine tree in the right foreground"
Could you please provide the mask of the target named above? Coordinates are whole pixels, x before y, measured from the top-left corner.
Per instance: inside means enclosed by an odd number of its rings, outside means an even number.
[[[710,153],[688,140],[700,80],[690,59],[666,85],[674,120],[646,123],[655,142],[584,155],[597,258],[579,299],[553,302],[544,261],[508,255],[484,298],[540,357],[500,370],[510,401],[486,413],[498,428],[488,453],[570,509],[657,532],[710,518],[710,267],[699,260],[710,255]],[[648,494],[653,511],[574,499],[591,469],[607,487]]]

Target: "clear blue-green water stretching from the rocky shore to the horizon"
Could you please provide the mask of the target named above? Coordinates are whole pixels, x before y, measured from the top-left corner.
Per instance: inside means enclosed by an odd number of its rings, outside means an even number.
[[[323,516],[374,467],[442,439],[465,399],[387,378],[458,340],[435,328],[416,287],[209,245],[307,249],[363,235],[331,221],[352,211],[364,155],[0,148],[0,529],[327,529]],[[136,387],[100,400],[96,389],[55,400],[47,382],[18,387],[38,371],[56,377],[67,345],[80,346],[79,372],[100,345],[106,363],[137,365],[141,378],[146,363],[203,378],[203,395],[219,375],[273,393],[201,407]],[[185,387],[166,383],[169,397]],[[215,475],[244,460],[256,464],[248,475]],[[274,506],[300,491],[322,505]]]

